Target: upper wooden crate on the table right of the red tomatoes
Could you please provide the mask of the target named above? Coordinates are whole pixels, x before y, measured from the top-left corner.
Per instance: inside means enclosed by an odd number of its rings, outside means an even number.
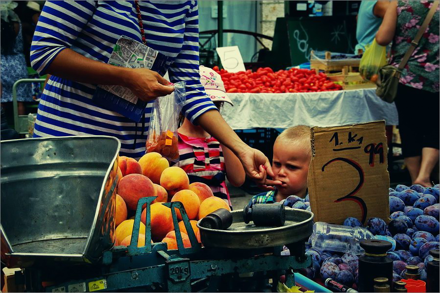
[[[317,58],[314,51],[310,52],[310,69],[322,70],[325,73],[342,72],[347,67],[349,72],[359,71],[361,59],[331,59],[331,52],[325,52],[325,58]]]

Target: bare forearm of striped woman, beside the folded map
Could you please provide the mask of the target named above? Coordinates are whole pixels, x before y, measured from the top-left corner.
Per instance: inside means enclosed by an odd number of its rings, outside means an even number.
[[[72,49],[62,50],[46,70],[77,82],[127,86],[130,69],[87,58]]]

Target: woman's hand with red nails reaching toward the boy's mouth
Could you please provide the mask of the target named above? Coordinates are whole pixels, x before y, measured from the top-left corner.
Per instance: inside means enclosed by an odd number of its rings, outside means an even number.
[[[281,181],[269,180],[267,175],[275,177],[267,157],[258,149],[247,146],[238,154],[246,174],[264,190],[274,190],[271,185],[281,185]]]

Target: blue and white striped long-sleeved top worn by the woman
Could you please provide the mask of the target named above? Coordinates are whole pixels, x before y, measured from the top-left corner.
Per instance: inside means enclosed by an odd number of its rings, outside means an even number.
[[[196,1],[139,1],[147,45],[170,57],[170,81],[186,82],[185,116],[194,121],[217,109],[199,75],[199,27]],[[45,74],[63,49],[107,63],[121,35],[142,42],[134,1],[46,1],[32,41],[32,67]],[[152,103],[144,127],[92,101],[95,84],[51,76],[41,97],[34,137],[110,135],[121,142],[120,155],[145,152]],[[136,137],[136,145],[134,146]]]

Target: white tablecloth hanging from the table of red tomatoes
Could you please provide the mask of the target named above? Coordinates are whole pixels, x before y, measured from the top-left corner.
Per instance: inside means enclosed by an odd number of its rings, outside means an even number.
[[[295,125],[337,126],[385,120],[397,125],[394,103],[382,101],[375,89],[292,94],[228,94],[222,115],[232,129],[288,128]]]

